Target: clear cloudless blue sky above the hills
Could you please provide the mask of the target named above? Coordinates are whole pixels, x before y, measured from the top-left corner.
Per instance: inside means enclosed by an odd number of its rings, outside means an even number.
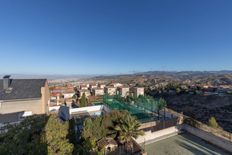
[[[0,0],[0,73],[232,70],[231,0]]]

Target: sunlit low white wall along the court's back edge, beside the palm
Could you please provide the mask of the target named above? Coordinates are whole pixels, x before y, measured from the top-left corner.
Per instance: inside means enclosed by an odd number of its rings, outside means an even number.
[[[177,126],[166,128],[160,131],[152,132],[152,131],[146,131],[144,133],[144,136],[139,136],[136,139],[136,142],[138,144],[144,144],[147,145],[149,143],[153,143],[174,135],[177,135],[179,133],[179,129]]]

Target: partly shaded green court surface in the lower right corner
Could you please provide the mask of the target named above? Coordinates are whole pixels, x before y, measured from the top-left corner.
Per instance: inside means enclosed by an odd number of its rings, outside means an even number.
[[[189,133],[145,145],[145,150],[148,155],[229,155]]]

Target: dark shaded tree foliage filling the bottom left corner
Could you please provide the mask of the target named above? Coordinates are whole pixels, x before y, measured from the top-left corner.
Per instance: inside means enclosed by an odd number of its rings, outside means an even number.
[[[47,154],[47,145],[41,141],[46,115],[25,118],[18,125],[7,125],[0,133],[0,154]]]

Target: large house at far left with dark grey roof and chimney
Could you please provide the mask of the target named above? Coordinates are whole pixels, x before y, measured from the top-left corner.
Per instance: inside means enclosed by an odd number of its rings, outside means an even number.
[[[46,79],[0,80],[0,119],[2,122],[17,122],[25,114],[48,112],[49,88]]]

